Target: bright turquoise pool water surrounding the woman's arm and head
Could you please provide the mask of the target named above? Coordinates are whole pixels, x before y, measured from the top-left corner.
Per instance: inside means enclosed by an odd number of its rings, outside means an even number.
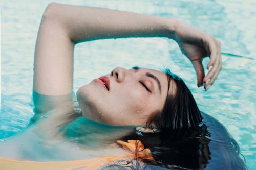
[[[0,139],[26,128],[33,116],[33,55],[40,18],[51,1],[1,1]],[[165,38],[99,40],[75,50],[74,91],[114,67],[169,67],[193,92],[199,108],[238,141],[250,170],[256,163],[255,1],[55,1],[179,18],[222,42],[223,69],[209,91],[178,46]],[[208,59],[204,60],[207,63]],[[91,64],[88,64],[91,63]],[[84,69],[84,65],[88,67]],[[93,70],[93,71],[92,71]],[[89,74],[90,73],[90,74]]]

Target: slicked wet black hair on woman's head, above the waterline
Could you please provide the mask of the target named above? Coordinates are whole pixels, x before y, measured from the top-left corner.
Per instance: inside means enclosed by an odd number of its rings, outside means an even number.
[[[158,129],[180,129],[197,126],[202,115],[197,103],[184,81],[166,69],[168,79],[168,92],[164,107],[161,111],[153,113],[146,124],[155,124]],[[176,91],[169,94],[170,84],[174,83]]]

